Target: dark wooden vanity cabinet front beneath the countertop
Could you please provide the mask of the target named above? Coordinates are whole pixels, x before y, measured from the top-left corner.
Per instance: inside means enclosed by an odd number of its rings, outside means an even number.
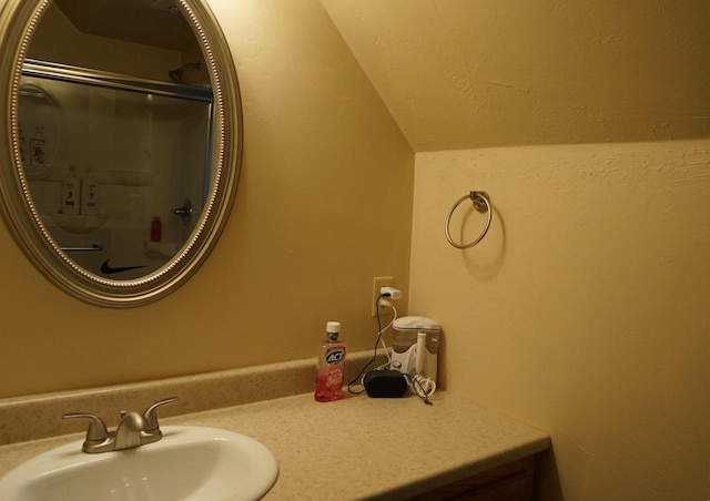
[[[435,491],[413,501],[531,501],[535,494],[539,454],[509,462]]]

